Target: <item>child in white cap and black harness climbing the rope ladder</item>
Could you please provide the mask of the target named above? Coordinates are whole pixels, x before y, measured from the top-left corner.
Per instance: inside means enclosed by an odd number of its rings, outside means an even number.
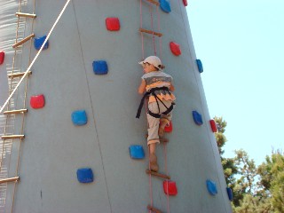
[[[150,170],[158,171],[159,166],[155,155],[156,144],[160,143],[163,137],[164,128],[170,123],[172,109],[176,98],[171,93],[175,88],[172,84],[172,76],[162,72],[164,66],[161,59],[156,56],[149,56],[139,62],[142,65],[145,75],[142,76],[142,82],[138,87],[138,93],[143,94],[140,106],[138,108],[137,118],[140,117],[144,101],[147,99],[147,122],[148,137],[147,145],[149,146]]]

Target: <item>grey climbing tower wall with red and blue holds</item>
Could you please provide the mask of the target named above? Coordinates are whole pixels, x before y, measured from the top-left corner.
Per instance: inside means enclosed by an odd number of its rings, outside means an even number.
[[[186,0],[0,0],[0,212],[232,212]],[[148,169],[157,55],[176,107]]]

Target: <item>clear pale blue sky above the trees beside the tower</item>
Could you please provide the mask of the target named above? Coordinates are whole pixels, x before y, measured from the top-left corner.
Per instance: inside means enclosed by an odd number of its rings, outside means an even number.
[[[225,157],[256,165],[284,146],[284,0],[192,0],[188,19],[211,117],[227,122]]]

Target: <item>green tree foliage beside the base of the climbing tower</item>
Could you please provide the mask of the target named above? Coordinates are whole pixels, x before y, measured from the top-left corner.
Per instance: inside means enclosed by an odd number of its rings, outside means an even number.
[[[284,212],[284,154],[277,150],[266,156],[265,162],[256,166],[244,150],[236,150],[235,157],[222,155],[227,139],[227,122],[214,117],[218,132],[217,146],[224,169],[225,180],[233,189],[233,212],[235,213],[283,213]]]

